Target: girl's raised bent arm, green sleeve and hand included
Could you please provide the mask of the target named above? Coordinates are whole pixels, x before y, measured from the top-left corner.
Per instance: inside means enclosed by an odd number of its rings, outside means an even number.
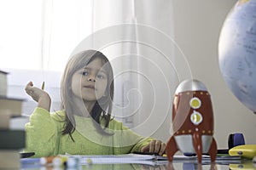
[[[43,89],[36,88],[32,82],[26,85],[26,94],[38,102],[38,107],[26,123],[26,151],[35,152],[34,157],[57,154],[58,128],[49,114],[51,99]]]

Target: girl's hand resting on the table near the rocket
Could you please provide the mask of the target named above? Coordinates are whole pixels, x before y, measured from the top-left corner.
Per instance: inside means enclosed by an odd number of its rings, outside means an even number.
[[[148,145],[145,145],[142,152],[158,153],[162,156],[166,152],[166,144],[160,140],[151,140]]]

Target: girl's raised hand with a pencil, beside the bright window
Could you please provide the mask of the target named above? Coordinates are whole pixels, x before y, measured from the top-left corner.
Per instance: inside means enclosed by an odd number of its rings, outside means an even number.
[[[49,94],[44,90],[34,87],[32,82],[26,84],[26,94],[30,95],[33,100],[38,102],[38,107],[42,107],[45,110],[49,111],[51,99]]]

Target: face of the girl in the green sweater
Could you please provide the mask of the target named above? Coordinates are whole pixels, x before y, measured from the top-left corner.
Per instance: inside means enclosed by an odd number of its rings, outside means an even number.
[[[93,59],[88,65],[74,72],[72,77],[73,94],[84,101],[96,101],[105,94],[108,74],[102,68],[102,59]]]

